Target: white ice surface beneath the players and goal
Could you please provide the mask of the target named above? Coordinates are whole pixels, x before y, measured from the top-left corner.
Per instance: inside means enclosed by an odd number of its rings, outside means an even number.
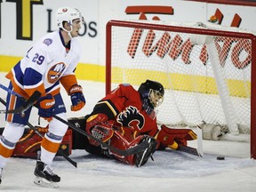
[[[0,82],[5,86],[8,81],[0,73]],[[84,87],[87,100],[82,112],[70,112],[69,117],[84,116],[91,112],[97,100],[104,96],[102,83],[79,81]],[[3,90],[1,98],[5,100]],[[62,95],[66,95],[63,92]],[[64,97],[67,106],[70,100]],[[0,109],[4,109],[1,104]],[[37,112],[29,122],[36,125]],[[4,115],[0,115],[0,127],[4,127]],[[46,124],[41,120],[41,125]],[[77,168],[63,157],[57,156],[52,164],[54,172],[60,175],[60,188],[41,188],[33,183],[36,161],[27,158],[11,158],[4,169],[4,180],[0,191],[255,191],[256,161],[249,156],[250,144],[231,141],[204,140],[204,157],[191,156],[182,152],[156,151],[154,161],[148,160],[144,166],[122,164],[113,159],[92,156],[84,150],[73,150],[70,156],[77,162]],[[196,142],[189,142],[195,147]],[[225,160],[216,160],[225,156]]]

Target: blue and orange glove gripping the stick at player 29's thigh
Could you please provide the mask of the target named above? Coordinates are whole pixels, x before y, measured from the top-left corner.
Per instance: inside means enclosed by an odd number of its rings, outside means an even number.
[[[55,100],[51,94],[47,94],[44,97],[39,98],[36,101],[38,115],[44,117],[48,122],[52,121],[52,116],[54,115],[54,104]]]

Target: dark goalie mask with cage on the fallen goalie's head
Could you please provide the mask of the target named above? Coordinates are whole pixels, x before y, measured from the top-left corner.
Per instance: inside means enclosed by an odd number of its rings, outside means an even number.
[[[156,81],[147,80],[140,84],[139,90],[142,107],[150,115],[164,100],[164,86]]]

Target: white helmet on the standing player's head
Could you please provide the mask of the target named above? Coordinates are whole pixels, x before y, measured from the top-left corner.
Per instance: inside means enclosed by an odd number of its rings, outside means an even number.
[[[76,19],[80,19],[81,24],[84,24],[84,17],[82,16],[81,12],[79,12],[76,8],[71,7],[60,7],[58,11],[56,12],[56,19],[57,19],[57,26],[58,28],[62,28],[65,31],[67,31],[63,27],[63,21],[67,21],[68,24],[71,26],[72,30],[72,21]],[[71,31],[70,30],[70,31]],[[70,32],[68,31],[68,32]]]

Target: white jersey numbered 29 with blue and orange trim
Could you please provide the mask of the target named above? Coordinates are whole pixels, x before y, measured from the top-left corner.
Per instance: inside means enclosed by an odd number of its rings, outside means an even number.
[[[6,77],[12,80],[16,92],[26,98],[36,90],[42,94],[57,94],[60,92],[61,76],[73,76],[70,79],[76,82],[74,72],[79,59],[77,40],[71,39],[68,50],[60,31],[55,31],[38,40]]]

